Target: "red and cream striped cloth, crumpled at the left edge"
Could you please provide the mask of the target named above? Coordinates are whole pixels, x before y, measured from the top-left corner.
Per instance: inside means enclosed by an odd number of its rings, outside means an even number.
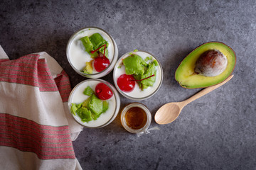
[[[68,75],[46,52],[9,60],[0,46],[0,169],[81,169],[82,127],[68,112]]]

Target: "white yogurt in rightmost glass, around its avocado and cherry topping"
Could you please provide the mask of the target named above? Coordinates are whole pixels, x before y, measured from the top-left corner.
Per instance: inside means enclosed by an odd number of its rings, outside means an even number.
[[[150,57],[151,61],[155,60],[157,62],[158,65],[156,66],[156,81],[154,82],[153,86],[149,86],[147,89],[144,89],[144,90],[139,88],[139,85],[136,83],[134,89],[132,91],[127,92],[127,91],[122,91],[119,88],[119,86],[117,84],[117,79],[122,74],[126,73],[125,66],[123,64],[123,60],[132,54],[139,55],[145,61],[146,61],[147,57]],[[149,61],[147,61],[147,63],[149,63]],[[132,99],[132,100],[135,100],[135,101],[141,101],[146,98],[150,98],[151,96],[156,94],[156,92],[160,89],[160,86],[163,81],[163,69],[161,67],[160,62],[156,59],[156,57],[151,55],[149,52],[134,50],[134,52],[127,52],[126,54],[122,55],[122,57],[119,58],[119,60],[117,61],[117,63],[114,66],[113,79],[114,79],[114,85],[116,86],[119,93],[122,94],[122,96]]]

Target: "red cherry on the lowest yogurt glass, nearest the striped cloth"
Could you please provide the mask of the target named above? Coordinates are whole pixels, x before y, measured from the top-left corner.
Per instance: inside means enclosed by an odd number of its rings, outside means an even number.
[[[113,96],[113,92],[110,87],[104,83],[97,84],[97,86],[95,87],[95,94],[98,98],[102,100],[110,99]]]

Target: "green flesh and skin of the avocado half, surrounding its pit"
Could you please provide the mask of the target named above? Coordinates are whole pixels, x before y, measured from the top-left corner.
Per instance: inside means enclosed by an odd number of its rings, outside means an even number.
[[[206,77],[201,74],[196,74],[194,69],[198,58],[208,50],[219,50],[228,59],[228,65],[225,70],[215,77]],[[179,64],[175,72],[175,79],[186,89],[204,88],[219,84],[227,79],[235,69],[236,56],[232,48],[225,45],[223,42],[206,42],[203,45],[196,47],[189,53],[185,59]]]

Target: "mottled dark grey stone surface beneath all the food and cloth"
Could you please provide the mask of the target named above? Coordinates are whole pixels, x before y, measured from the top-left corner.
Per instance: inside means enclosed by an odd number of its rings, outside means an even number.
[[[76,30],[97,26],[116,40],[119,57],[134,49],[158,57],[164,69],[159,92],[146,101],[154,117],[164,103],[200,89],[174,79],[179,62],[198,45],[224,42],[235,50],[235,77],[183,108],[174,123],[152,120],[148,135],[132,135],[119,122],[84,129],[73,142],[83,169],[255,169],[256,2],[250,1],[0,1],[0,45],[11,59],[46,51],[70,76],[65,47]],[[112,72],[103,77],[112,83]],[[122,107],[132,102],[122,97]]]

